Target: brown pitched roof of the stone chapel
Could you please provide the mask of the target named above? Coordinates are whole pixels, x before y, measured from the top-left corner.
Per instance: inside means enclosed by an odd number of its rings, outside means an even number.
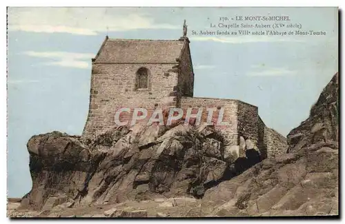
[[[177,63],[186,41],[106,39],[95,63]]]

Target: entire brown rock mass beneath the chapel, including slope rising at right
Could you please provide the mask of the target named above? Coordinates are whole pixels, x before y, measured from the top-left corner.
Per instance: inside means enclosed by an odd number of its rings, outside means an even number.
[[[288,134],[288,152],[264,161],[250,139],[224,145],[209,125],[32,136],[20,207],[49,217],[337,215],[338,106],[335,74]]]

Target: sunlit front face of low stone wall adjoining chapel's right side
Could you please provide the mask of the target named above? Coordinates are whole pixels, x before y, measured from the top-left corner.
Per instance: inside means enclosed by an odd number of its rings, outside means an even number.
[[[215,125],[215,128],[226,136],[226,145],[237,145],[237,101],[230,99],[210,99],[197,97],[181,97],[181,108],[186,113],[188,108],[195,108],[193,114],[197,113],[197,109],[204,108],[201,121],[206,122],[208,112],[206,108],[213,108],[213,122],[217,124],[219,109],[224,108],[224,116],[222,121],[228,122],[229,125]]]

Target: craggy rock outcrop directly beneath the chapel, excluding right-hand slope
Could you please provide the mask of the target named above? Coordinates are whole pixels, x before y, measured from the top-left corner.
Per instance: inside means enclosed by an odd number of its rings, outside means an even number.
[[[122,126],[89,139],[60,132],[32,136],[32,190],[21,207],[44,211],[161,194],[201,198],[260,161],[246,140],[240,154],[239,145],[224,146],[221,134],[206,124]]]

